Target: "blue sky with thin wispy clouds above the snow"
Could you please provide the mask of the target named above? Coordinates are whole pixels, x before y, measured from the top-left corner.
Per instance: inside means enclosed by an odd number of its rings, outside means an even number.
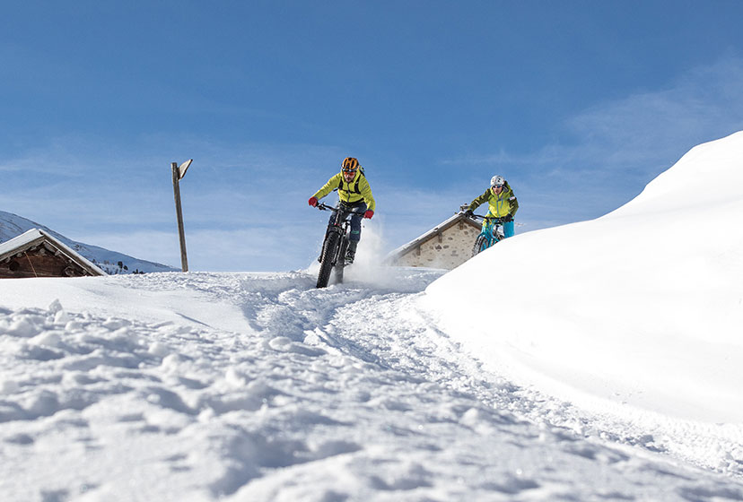
[[[0,209],[178,266],[170,162],[193,158],[192,270],[306,267],[327,221],[307,199],[345,156],[392,249],[494,174],[526,232],[743,129],[737,1],[3,7]]]

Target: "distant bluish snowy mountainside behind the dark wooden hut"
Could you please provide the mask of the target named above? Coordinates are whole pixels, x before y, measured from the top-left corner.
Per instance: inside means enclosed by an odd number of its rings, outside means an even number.
[[[72,247],[88,260],[92,261],[93,264],[98,265],[105,273],[175,272],[178,270],[168,265],[139,260],[132,256],[123,255],[115,251],[109,251],[103,247],[75,242],[52,229],[39,225],[39,223],[27,220],[22,216],[13,214],[12,212],[0,211],[0,242],[5,242],[6,240],[17,237],[30,229],[42,229],[45,232],[48,232],[67,246]],[[119,262],[121,263],[121,266],[118,265]]]

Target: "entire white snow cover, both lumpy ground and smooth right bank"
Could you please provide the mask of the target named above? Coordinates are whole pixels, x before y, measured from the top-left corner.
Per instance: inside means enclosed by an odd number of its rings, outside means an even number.
[[[741,500],[738,159],[446,274],[2,281],[0,499]]]

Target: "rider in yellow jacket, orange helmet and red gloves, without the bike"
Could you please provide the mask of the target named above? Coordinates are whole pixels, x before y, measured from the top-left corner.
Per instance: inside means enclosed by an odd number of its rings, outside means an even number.
[[[376,207],[374,196],[371,195],[371,186],[369,186],[369,182],[363,174],[363,168],[358,159],[346,157],[341,163],[341,172],[328,179],[328,183],[322,186],[315,195],[312,195],[308,202],[312,207],[316,207],[319,199],[335,190],[338,191],[338,198],[341,201],[358,212],[351,217],[351,235],[348,236],[348,251],[345,253],[345,264],[353,264],[356,247],[361,240],[362,217],[371,218]],[[335,218],[336,212],[333,212],[330,215],[328,226],[332,224]]]

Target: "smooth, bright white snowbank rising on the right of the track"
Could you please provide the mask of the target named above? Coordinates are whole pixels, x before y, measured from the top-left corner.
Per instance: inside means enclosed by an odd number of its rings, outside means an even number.
[[[695,147],[598,220],[504,241],[425,300],[520,384],[730,446],[743,439],[741,186],[738,133]]]

